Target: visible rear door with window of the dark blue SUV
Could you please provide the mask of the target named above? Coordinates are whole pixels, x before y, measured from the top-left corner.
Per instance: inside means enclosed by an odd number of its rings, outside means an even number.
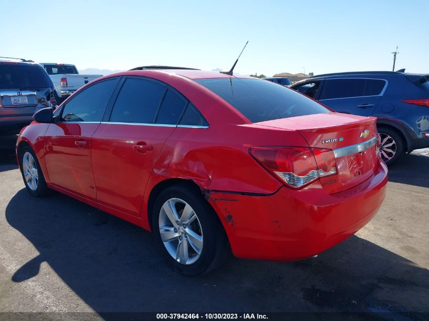
[[[339,113],[371,116],[386,86],[384,79],[325,79],[318,99]]]

